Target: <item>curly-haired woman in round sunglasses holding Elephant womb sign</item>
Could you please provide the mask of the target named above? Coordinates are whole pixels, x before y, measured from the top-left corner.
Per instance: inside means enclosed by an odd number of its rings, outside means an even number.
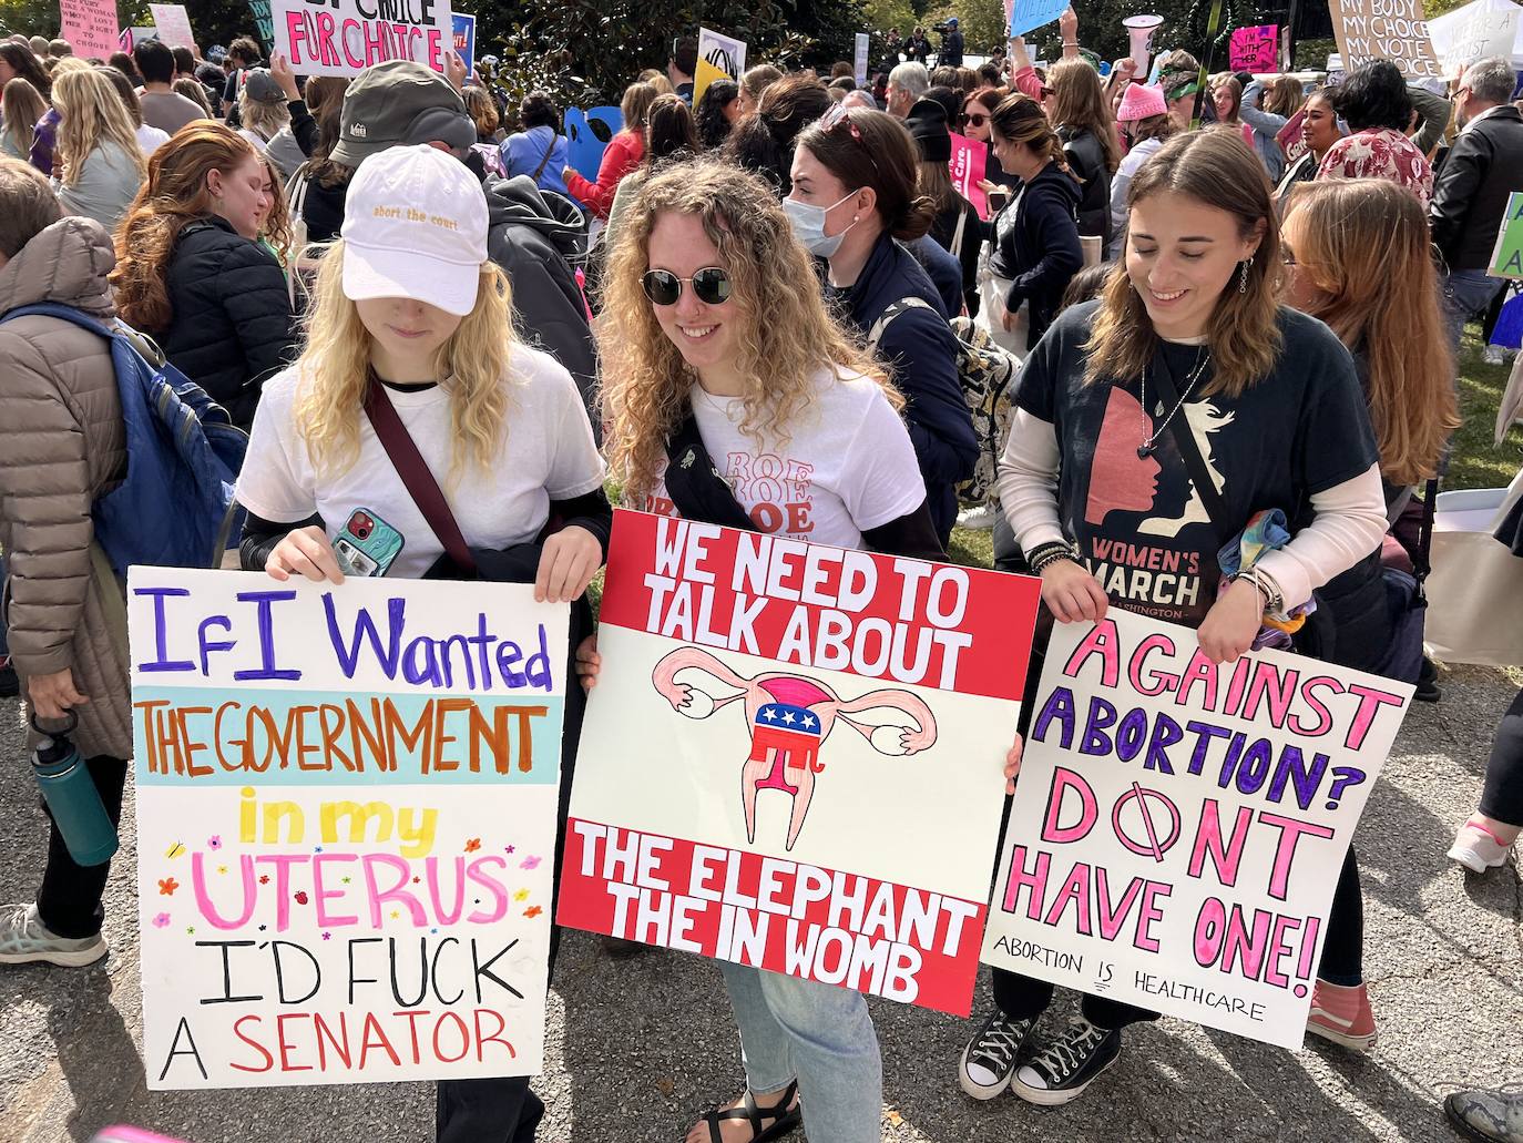
[[[606,440],[627,503],[940,556],[903,402],[832,320],[766,183],[713,160],[653,175],[621,219],[606,290]],[[579,663],[589,683],[597,668],[595,652]],[[748,1091],[688,1141],[778,1138],[801,1096],[812,1138],[876,1143],[883,1077],[862,995],[720,971]]]

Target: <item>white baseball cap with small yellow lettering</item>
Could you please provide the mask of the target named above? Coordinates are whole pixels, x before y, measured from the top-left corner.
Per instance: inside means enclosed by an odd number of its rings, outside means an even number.
[[[454,155],[391,146],[355,171],[344,200],[344,297],[408,297],[465,317],[487,261],[486,195]]]

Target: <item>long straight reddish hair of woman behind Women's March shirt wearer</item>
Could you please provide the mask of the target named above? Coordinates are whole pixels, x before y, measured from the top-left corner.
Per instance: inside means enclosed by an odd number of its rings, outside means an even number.
[[[1436,475],[1459,415],[1426,212],[1395,183],[1337,178],[1299,183],[1292,218],[1296,271],[1316,290],[1307,312],[1369,366],[1381,474],[1395,485]]]

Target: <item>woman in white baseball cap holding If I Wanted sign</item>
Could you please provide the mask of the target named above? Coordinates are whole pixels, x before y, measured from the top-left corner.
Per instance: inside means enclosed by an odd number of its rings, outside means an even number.
[[[586,590],[612,523],[603,462],[571,375],[513,334],[486,198],[458,160],[396,146],[355,174],[306,349],[265,386],[238,500],[242,565],[276,579],[522,578],[550,602]],[[542,1114],[527,1077],[439,1087],[449,1143],[532,1140]]]

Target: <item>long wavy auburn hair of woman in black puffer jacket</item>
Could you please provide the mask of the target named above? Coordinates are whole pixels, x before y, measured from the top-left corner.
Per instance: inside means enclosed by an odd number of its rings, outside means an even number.
[[[257,158],[254,145],[236,131],[198,119],[154,151],[148,181],[116,230],[116,309],[129,326],[161,332],[174,320],[164,277],[180,232],[212,213],[206,177]]]

